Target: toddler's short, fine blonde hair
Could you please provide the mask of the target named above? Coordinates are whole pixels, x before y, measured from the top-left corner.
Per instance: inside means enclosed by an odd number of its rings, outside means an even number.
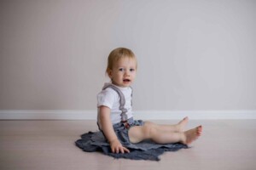
[[[137,59],[135,54],[128,48],[115,48],[113,51],[108,55],[108,65],[106,69],[106,74],[109,71],[113,70],[113,65],[119,62],[119,59],[124,58],[135,59],[136,60],[136,68],[137,68]]]

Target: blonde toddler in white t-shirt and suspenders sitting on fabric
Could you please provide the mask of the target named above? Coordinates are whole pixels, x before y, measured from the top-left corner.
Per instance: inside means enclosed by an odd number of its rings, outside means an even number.
[[[156,144],[190,144],[201,136],[202,126],[184,131],[188,117],[175,125],[133,120],[131,84],[137,74],[137,59],[130,49],[113,49],[106,73],[111,83],[105,83],[97,95],[97,123],[113,153],[129,153],[124,144],[129,146],[146,139]]]

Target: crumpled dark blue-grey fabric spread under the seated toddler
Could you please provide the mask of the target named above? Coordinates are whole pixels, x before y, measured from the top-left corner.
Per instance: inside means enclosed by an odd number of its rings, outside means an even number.
[[[186,144],[175,143],[175,144],[156,144],[151,140],[143,140],[138,144],[127,144],[122,143],[130,153],[112,153],[108,141],[105,139],[103,133],[89,132],[81,135],[81,139],[78,139],[75,144],[82,150],[87,152],[100,151],[107,156],[113,156],[114,158],[126,158],[131,160],[150,160],[160,161],[160,155],[165,151],[177,151],[180,149],[187,149]]]

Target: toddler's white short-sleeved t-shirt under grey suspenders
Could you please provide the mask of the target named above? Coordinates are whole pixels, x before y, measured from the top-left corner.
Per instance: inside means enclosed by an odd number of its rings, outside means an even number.
[[[132,89],[130,87],[127,87],[127,88],[120,88],[118,86],[115,86],[115,87],[119,88],[119,90],[125,96],[125,109],[127,110],[126,115],[127,115],[127,118],[129,119],[133,116],[133,112],[131,109]],[[120,101],[119,94],[116,91],[114,91],[113,88],[106,88],[97,95],[97,107],[98,107],[97,121],[100,126],[101,126],[101,120],[99,116],[99,107],[101,105],[104,105],[110,108],[111,110],[110,118],[111,118],[112,124],[121,122],[122,111],[119,110],[119,106],[120,106],[119,101]]]

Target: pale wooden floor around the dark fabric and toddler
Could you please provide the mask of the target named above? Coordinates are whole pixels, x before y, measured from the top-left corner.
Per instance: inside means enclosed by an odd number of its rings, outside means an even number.
[[[97,130],[95,121],[0,121],[0,169],[256,168],[256,120],[193,120],[188,128],[198,124],[203,125],[204,133],[192,148],[166,152],[160,161],[131,161],[86,153],[75,146],[81,133]]]

